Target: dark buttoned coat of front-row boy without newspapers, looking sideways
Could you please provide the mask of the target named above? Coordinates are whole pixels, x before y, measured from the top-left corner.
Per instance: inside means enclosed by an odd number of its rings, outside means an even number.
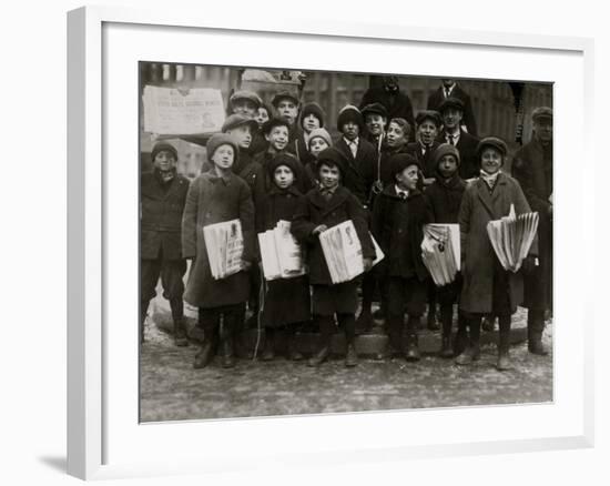
[[[390,184],[375,199],[372,232],[385,254],[378,270],[384,276],[417,276],[421,282],[428,277],[421,261],[421,241],[424,224],[431,222],[427,201],[417,189],[403,200],[396,185]]]

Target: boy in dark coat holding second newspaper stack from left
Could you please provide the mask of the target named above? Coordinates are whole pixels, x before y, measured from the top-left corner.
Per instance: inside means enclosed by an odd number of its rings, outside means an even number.
[[[276,227],[279,221],[292,221],[302,198],[295,182],[299,162],[288,153],[277,154],[267,170],[273,186],[256,204],[256,232]],[[261,323],[265,327],[263,361],[275,356],[277,331],[286,335],[286,357],[303,358],[296,347],[295,332],[299,324],[311,320],[309,281],[307,275],[264,282]]]

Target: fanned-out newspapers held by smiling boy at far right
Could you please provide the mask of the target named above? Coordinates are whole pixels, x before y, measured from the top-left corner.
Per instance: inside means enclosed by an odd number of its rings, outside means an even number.
[[[538,230],[538,213],[515,215],[510,205],[508,216],[487,223],[487,234],[505,270],[517,272],[528,255]]]

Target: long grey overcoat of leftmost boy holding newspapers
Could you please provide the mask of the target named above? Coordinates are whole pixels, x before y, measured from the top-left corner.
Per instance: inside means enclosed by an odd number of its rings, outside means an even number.
[[[247,272],[214,280],[210,269],[203,226],[238,219],[244,236],[244,261],[254,261],[254,204],[247,184],[228,173],[218,178],[213,171],[195,179],[186,195],[182,217],[184,256],[194,259],[184,300],[197,307],[218,307],[247,301]]]

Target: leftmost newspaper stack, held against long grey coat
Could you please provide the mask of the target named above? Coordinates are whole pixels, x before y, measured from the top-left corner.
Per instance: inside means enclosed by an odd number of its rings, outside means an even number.
[[[243,269],[244,236],[240,220],[203,226],[203,239],[215,280],[225,279]]]

